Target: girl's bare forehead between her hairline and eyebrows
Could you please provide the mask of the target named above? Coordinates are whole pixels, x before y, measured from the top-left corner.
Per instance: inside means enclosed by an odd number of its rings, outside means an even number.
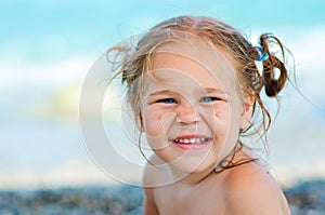
[[[153,55],[153,73],[166,82],[224,90],[237,85],[230,56],[214,45],[199,40],[172,41],[159,46]]]

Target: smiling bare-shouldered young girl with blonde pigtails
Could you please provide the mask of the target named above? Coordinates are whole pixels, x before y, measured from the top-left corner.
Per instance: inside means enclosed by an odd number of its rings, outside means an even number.
[[[281,41],[262,35],[260,45],[217,19],[180,16],[152,28],[133,50],[115,48],[126,53],[122,81],[154,151],[143,177],[145,214],[290,214],[239,138],[259,127],[265,135],[271,118],[261,90],[276,97],[287,79]],[[251,120],[257,108],[260,126]]]

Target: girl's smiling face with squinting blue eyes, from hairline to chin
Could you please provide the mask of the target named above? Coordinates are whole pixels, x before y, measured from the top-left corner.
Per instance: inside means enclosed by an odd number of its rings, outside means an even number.
[[[232,65],[203,42],[158,48],[144,89],[141,129],[154,152],[184,173],[213,170],[250,118]]]

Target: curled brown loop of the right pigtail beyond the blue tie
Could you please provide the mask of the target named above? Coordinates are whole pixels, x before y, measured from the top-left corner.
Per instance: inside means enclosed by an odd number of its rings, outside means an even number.
[[[264,56],[265,58],[262,61],[263,70],[261,86],[264,86],[265,94],[269,97],[276,97],[284,88],[288,79],[288,75],[284,61],[282,62],[277,56],[275,56],[275,54],[271,53],[269,45],[271,43],[277,44],[281,49],[281,55],[283,59],[285,58],[284,46],[282,42],[271,33],[261,35],[259,42],[262,48],[262,57]],[[275,76],[276,70],[280,72],[278,77]]]

